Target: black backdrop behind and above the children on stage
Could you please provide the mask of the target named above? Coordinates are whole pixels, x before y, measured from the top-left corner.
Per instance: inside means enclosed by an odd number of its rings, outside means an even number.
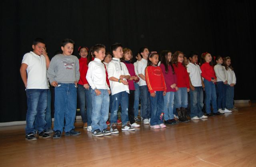
[[[170,49],[232,57],[235,99],[256,100],[254,1],[246,0],[2,0],[0,122],[26,119],[26,92],[19,68],[32,41],[42,37],[50,58],[71,38],[91,47],[120,42],[135,54]]]

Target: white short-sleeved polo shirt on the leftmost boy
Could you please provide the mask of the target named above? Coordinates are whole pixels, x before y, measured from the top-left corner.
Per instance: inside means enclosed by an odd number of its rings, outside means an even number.
[[[46,59],[43,55],[36,55],[34,52],[26,53],[22,63],[28,65],[26,89],[48,89]]]

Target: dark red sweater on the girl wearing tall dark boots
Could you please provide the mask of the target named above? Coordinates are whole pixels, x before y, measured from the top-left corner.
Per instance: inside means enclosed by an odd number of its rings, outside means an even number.
[[[174,73],[177,77],[177,86],[178,88],[189,88],[189,79],[187,69],[182,65],[182,63],[178,63],[178,67],[176,64],[173,64]]]

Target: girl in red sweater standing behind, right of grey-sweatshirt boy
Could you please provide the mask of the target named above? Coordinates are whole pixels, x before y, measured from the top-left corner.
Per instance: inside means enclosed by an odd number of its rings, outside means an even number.
[[[91,88],[86,80],[86,73],[88,71],[88,48],[83,46],[78,48],[80,55],[79,59],[79,72],[80,80],[78,81],[77,96],[80,104],[80,114],[84,122],[84,129],[92,124],[92,97]],[[86,103],[86,110],[85,110]]]

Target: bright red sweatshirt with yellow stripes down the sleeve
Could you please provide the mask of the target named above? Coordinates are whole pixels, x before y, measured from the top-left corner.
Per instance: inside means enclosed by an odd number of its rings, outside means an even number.
[[[145,78],[150,93],[154,93],[154,91],[166,91],[164,75],[160,67],[154,67],[152,65],[146,67]]]

